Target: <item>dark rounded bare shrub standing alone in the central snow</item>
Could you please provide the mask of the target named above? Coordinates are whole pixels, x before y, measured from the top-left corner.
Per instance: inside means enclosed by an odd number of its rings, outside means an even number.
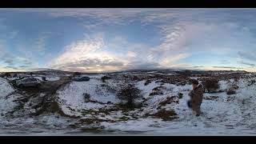
[[[133,84],[124,84],[117,92],[119,99],[125,100],[127,106],[134,106],[134,100],[142,96],[141,90],[135,87]]]

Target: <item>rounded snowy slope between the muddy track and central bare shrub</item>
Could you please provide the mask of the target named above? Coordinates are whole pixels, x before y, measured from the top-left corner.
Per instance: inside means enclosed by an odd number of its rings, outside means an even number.
[[[78,116],[82,110],[97,110],[106,106],[106,102],[118,102],[115,94],[101,88],[101,85],[98,79],[90,79],[88,82],[71,82],[63,90],[58,90],[58,102],[63,112]],[[90,100],[94,102],[85,102],[84,94],[90,94]]]

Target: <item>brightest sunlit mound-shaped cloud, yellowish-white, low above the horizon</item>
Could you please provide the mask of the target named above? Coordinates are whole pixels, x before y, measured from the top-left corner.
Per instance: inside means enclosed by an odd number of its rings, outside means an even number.
[[[61,70],[102,71],[118,70],[123,66],[122,58],[104,49],[102,35],[66,46],[66,51],[50,62],[49,66]]]

